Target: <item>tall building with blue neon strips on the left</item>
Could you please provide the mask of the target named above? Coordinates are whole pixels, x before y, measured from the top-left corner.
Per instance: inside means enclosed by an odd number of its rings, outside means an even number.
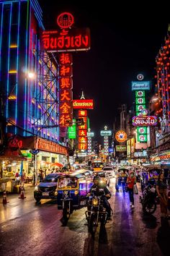
[[[41,50],[42,30],[37,0],[0,1],[1,117],[6,133],[22,136],[21,149],[44,152],[37,155],[39,166],[51,161],[51,153],[57,161],[56,153],[66,155],[58,144],[58,61]]]

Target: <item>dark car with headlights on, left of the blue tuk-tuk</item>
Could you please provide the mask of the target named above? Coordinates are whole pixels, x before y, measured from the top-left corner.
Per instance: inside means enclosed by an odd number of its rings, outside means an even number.
[[[62,173],[48,174],[45,179],[35,186],[34,197],[36,202],[41,199],[57,200],[57,182]]]

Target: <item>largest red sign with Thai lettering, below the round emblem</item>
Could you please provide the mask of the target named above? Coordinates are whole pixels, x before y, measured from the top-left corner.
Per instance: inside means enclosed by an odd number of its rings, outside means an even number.
[[[45,51],[87,51],[90,49],[89,28],[71,30],[45,30],[41,35]]]

